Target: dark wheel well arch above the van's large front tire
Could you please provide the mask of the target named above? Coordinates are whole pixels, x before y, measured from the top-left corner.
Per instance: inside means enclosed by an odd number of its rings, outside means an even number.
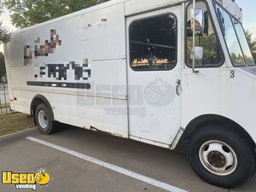
[[[195,131],[203,127],[207,124],[218,124],[225,125],[224,127],[231,127],[232,130],[238,132],[243,138],[247,140],[247,142],[253,147],[256,148],[256,145],[253,141],[253,138],[248,134],[248,132],[241,127],[241,125],[237,124],[235,121],[225,118],[224,116],[216,115],[216,114],[206,114],[201,115],[189,122],[185,131],[183,132],[183,141],[188,141],[189,137],[191,137]]]

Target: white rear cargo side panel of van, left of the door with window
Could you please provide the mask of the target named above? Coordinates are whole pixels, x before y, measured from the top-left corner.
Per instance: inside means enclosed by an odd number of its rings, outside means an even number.
[[[57,45],[53,54],[33,57],[31,63],[25,66],[24,46],[36,45],[34,41],[37,38],[43,40],[40,44],[44,44],[44,39],[49,40],[51,29],[60,34],[61,45]],[[123,111],[127,111],[124,3],[114,3],[107,9],[96,9],[92,13],[54,20],[17,32],[13,41],[6,46],[5,54],[11,74],[10,96],[17,97],[17,102],[12,102],[12,108],[30,113],[33,97],[42,94],[51,104],[56,120],[128,137],[127,115],[119,115],[117,118],[115,114],[108,114],[108,108],[114,107],[113,102],[119,102]],[[88,60],[92,73],[89,79],[90,90],[33,87],[26,84],[27,81],[55,82],[54,77],[39,77],[39,67],[45,67],[46,64],[65,65],[74,61],[82,65],[84,60]],[[35,79],[34,74],[38,75],[38,79]],[[83,82],[83,79],[74,81],[74,73],[69,70],[67,82],[78,83]],[[117,84],[123,85],[122,89],[116,90],[118,92],[113,90]],[[102,88],[105,85],[108,87]],[[98,105],[98,102],[109,104]]]

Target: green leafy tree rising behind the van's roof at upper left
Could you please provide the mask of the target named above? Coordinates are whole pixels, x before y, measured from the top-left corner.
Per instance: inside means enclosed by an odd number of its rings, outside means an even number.
[[[5,0],[13,25],[18,28],[52,20],[108,0]]]

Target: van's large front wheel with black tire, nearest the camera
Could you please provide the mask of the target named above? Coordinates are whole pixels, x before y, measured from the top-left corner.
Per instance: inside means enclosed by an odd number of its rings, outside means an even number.
[[[224,163],[227,165],[228,161],[225,159],[223,160],[224,155],[222,156],[221,154],[216,153],[217,150],[213,150],[213,147],[211,147],[212,143],[210,141],[212,141],[213,144],[214,142],[219,142],[220,144],[218,143],[218,145],[223,144],[222,148],[227,153],[235,153],[235,155],[229,155],[229,157],[234,158],[234,166],[225,167],[222,164]],[[210,144],[207,142],[210,142]],[[206,145],[204,145],[205,143]],[[225,144],[227,144],[231,150],[229,148],[226,149],[224,147],[226,146]],[[217,144],[214,144],[214,146],[216,145]],[[205,148],[203,148],[203,146],[205,146]],[[210,151],[211,153],[209,153]],[[204,155],[205,153],[209,154]],[[212,154],[215,156],[212,156]],[[189,138],[189,142],[187,143],[187,155],[189,158],[189,163],[195,173],[207,183],[217,185],[218,187],[234,188],[240,186],[242,183],[245,183],[247,180],[252,178],[255,172],[255,152],[252,146],[250,146],[246,138],[241,137],[241,135],[239,135],[236,131],[232,131],[232,129],[226,128],[222,125],[205,125],[197,130],[192,137]],[[217,159],[214,159],[216,157]],[[206,159],[208,160],[208,164],[204,163],[206,162],[204,161]],[[209,164],[209,162],[213,163]],[[211,169],[212,167],[213,171]],[[214,170],[215,167],[224,167],[227,171],[226,173],[221,172],[221,174],[228,175],[217,175],[216,173],[218,170]],[[229,170],[230,172],[228,172]]]

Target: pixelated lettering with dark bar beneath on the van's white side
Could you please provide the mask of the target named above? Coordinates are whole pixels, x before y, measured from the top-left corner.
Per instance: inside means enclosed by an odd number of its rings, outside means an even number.
[[[46,57],[54,54],[55,49],[61,46],[60,36],[55,29],[50,30],[50,40],[45,40],[44,44],[41,39],[37,38],[34,45],[24,46],[24,65],[32,64],[32,60],[38,57]],[[27,81],[30,86],[47,86],[56,88],[74,88],[90,89],[89,83],[84,83],[91,77],[89,60],[83,59],[79,64],[75,61],[67,61],[54,64],[35,63],[34,81]],[[43,80],[43,81],[42,81]]]

